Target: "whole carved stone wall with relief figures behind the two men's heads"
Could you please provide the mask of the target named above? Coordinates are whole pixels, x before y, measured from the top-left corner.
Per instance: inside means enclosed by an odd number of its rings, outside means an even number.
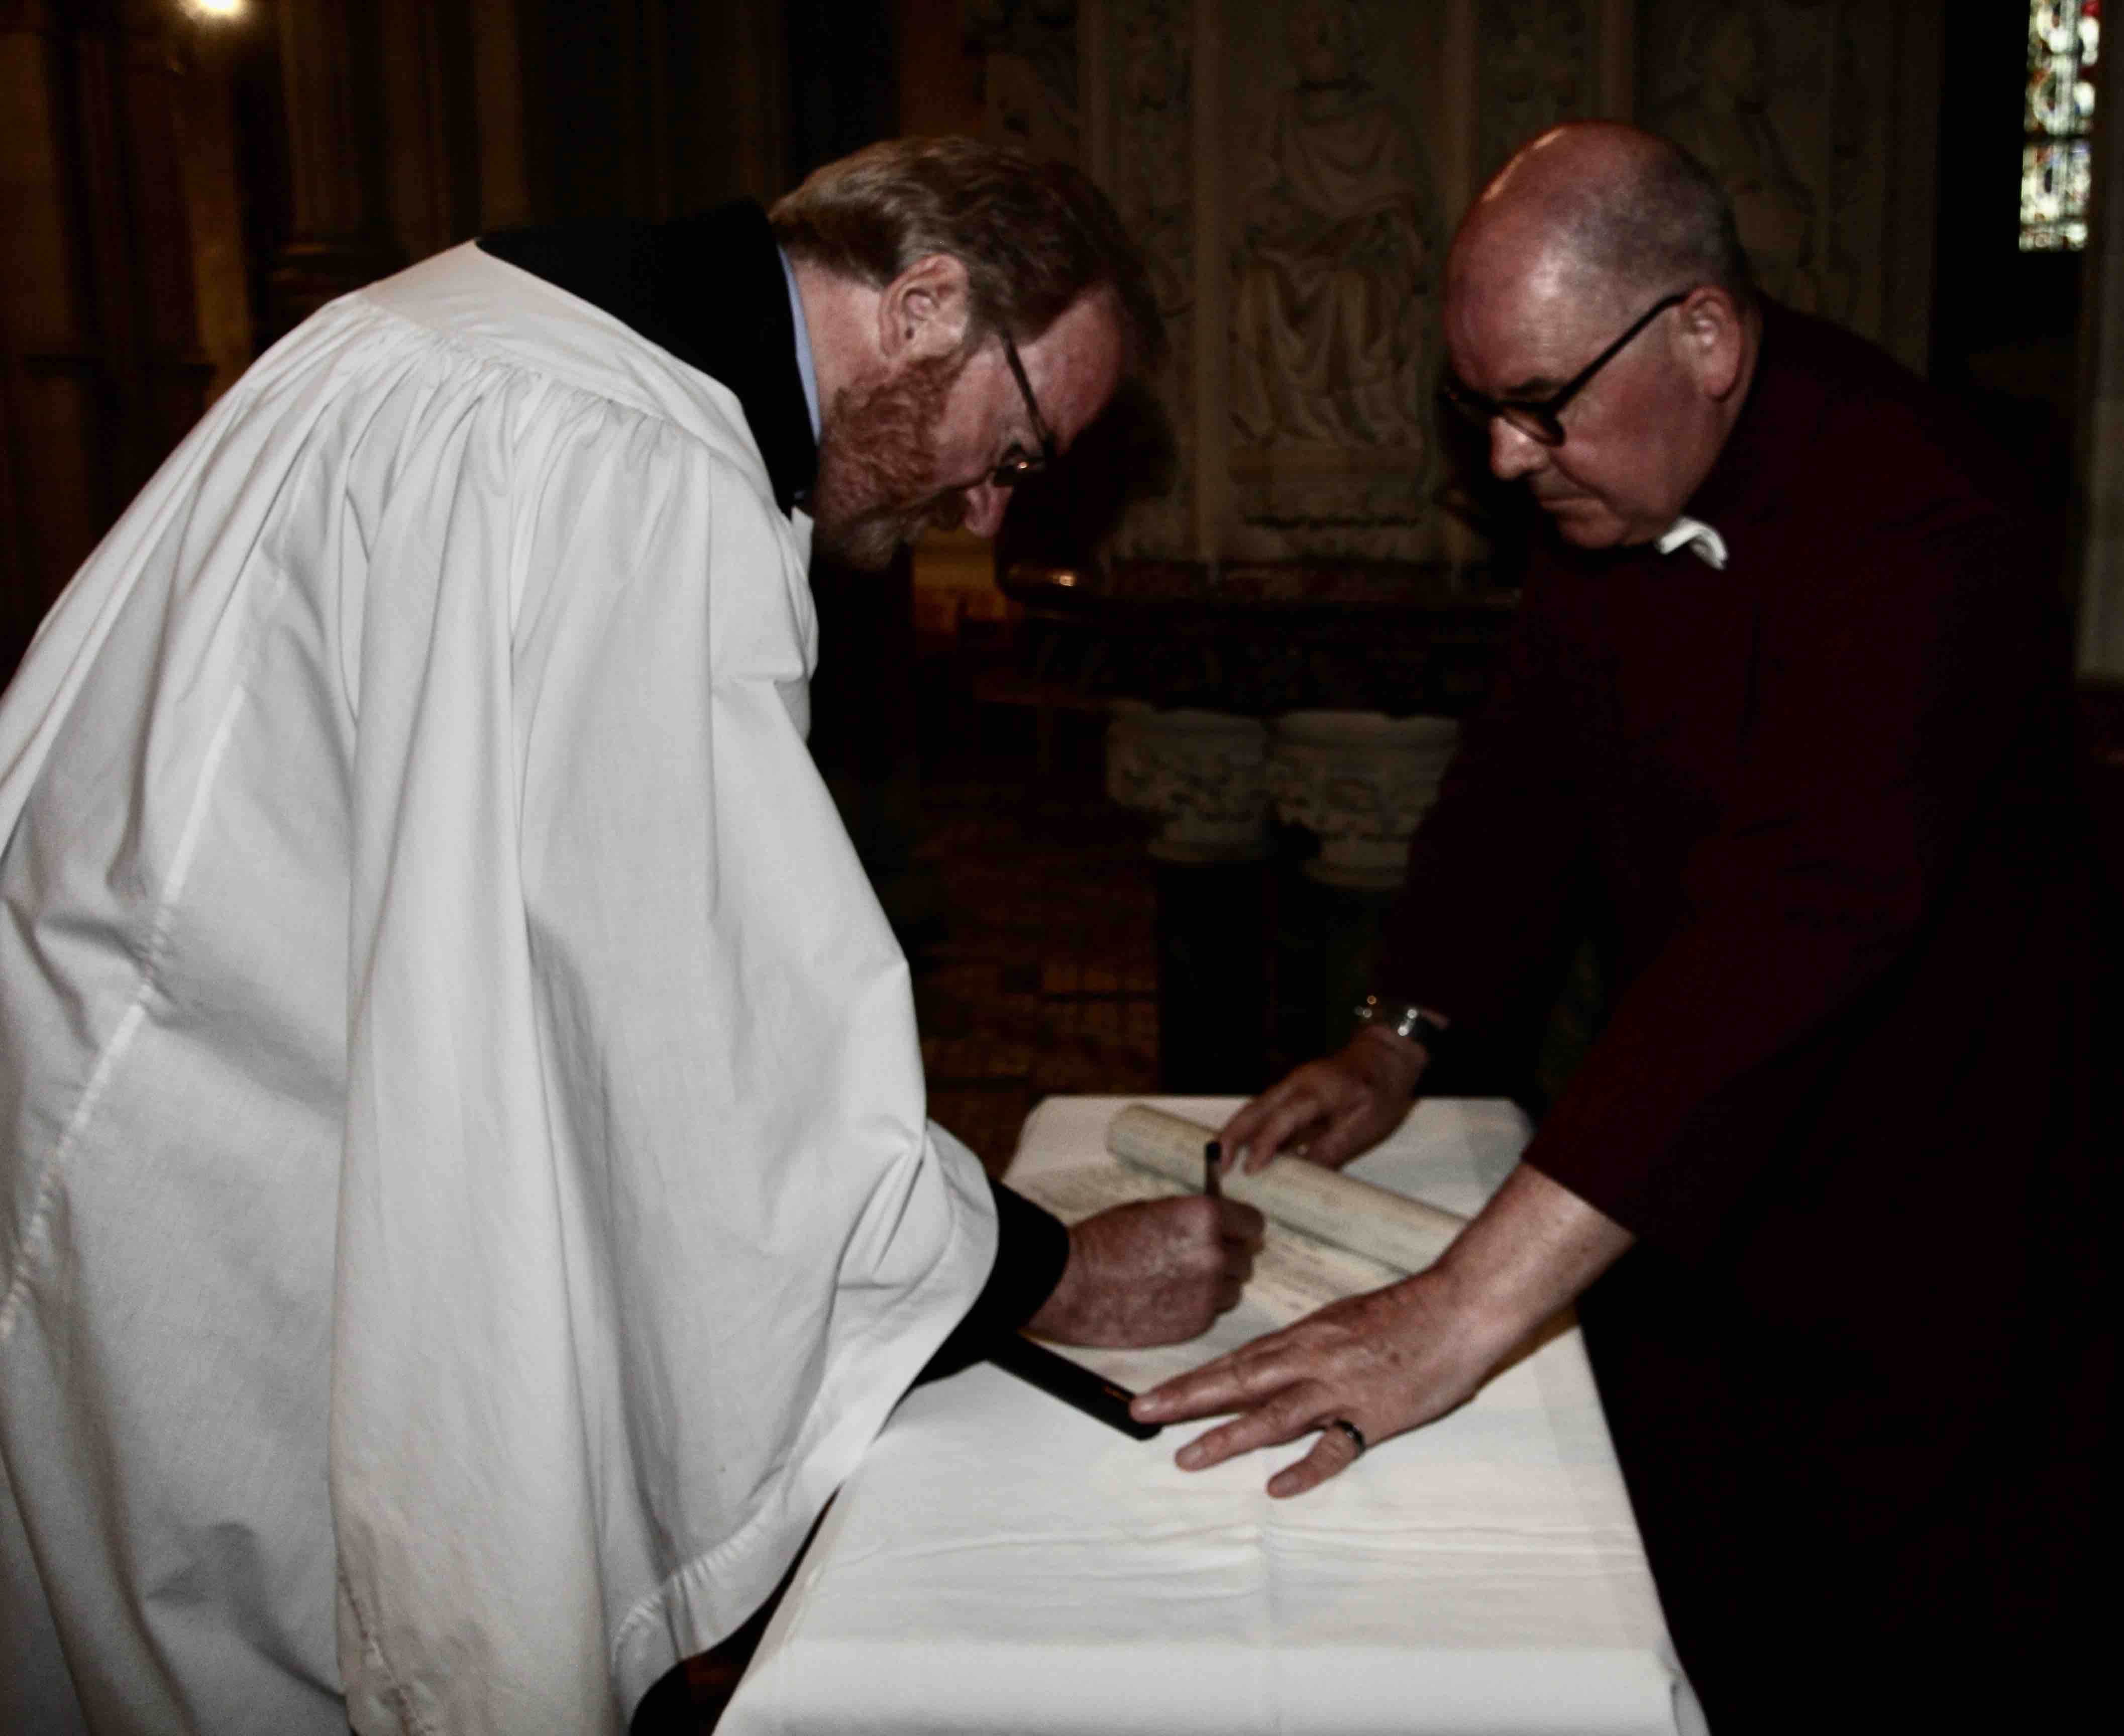
[[[1113,557],[1478,559],[1436,501],[1442,249],[1568,117],[1682,136],[1774,293],[1924,361],[1918,0],[966,0],[962,25],[990,132],[1113,193],[1172,325],[1177,484]]]

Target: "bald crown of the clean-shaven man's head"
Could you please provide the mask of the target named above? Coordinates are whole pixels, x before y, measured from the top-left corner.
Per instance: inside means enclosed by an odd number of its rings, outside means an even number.
[[[1523,147],[1461,219],[1446,268],[1544,270],[1612,306],[1714,285],[1752,300],[1748,255],[1725,189],[1695,157],[1612,121],[1551,127]]]

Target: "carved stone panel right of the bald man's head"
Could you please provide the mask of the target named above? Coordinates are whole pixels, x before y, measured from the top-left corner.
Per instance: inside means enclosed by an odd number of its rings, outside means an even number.
[[[1895,0],[1646,0],[1640,115],[1725,183],[1757,280],[1882,329]]]

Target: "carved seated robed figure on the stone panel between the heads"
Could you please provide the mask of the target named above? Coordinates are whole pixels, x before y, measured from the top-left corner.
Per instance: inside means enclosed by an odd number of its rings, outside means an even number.
[[[1277,446],[1421,446],[1429,212],[1406,117],[1359,70],[1349,0],[1298,0],[1238,210],[1232,427]]]

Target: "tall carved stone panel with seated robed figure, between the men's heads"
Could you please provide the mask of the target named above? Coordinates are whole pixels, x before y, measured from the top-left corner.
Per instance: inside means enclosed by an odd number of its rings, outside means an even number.
[[[1226,557],[1436,550],[1438,11],[1223,11]]]

